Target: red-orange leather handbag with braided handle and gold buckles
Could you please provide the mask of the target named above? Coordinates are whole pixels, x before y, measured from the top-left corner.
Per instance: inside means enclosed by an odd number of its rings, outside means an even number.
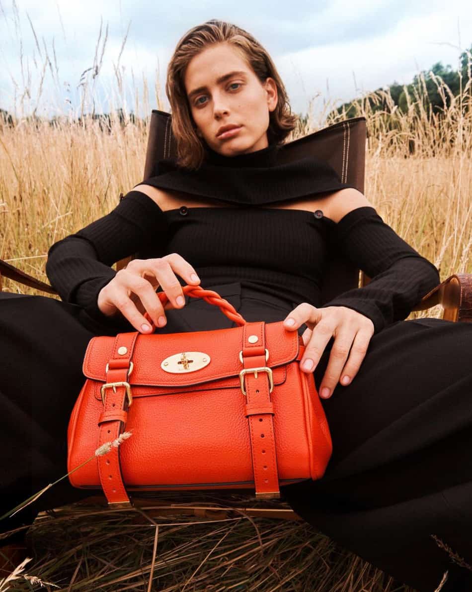
[[[300,370],[302,337],[283,321],[248,323],[217,292],[182,289],[239,326],[92,337],[67,430],[67,470],[85,464],[70,483],[129,507],[128,491],[255,488],[277,498],[280,485],[321,478],[332,442],[313,374]],[[125,430],[132,437],[85,462]]]

